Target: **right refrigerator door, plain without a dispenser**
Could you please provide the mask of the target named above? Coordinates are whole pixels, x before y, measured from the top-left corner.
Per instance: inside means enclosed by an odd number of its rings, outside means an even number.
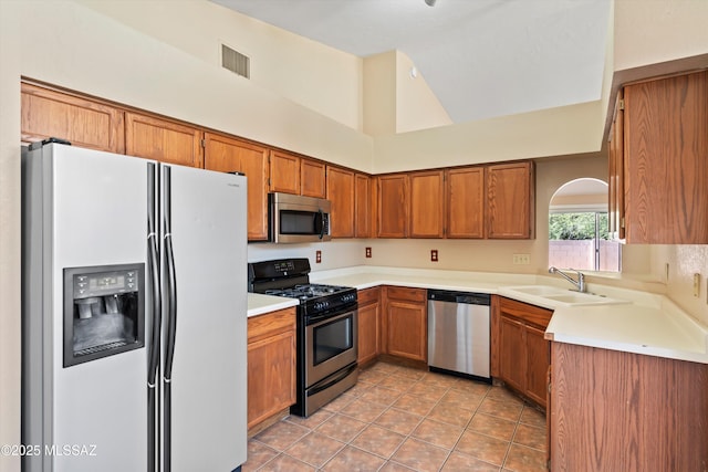
[[[231,471],[247,448],[246,178],[164,167],[177,292],[171,470]]]

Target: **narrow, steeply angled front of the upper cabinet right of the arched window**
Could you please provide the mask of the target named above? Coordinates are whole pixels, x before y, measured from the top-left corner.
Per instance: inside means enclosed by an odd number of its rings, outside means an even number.
[[[624,239],[624,101],[622,90],[617,94],[615,112],[610,128],[607,187],[608,230],[612,239]]]

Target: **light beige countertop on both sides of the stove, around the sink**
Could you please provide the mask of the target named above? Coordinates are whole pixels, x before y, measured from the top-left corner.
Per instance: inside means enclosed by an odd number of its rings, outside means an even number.
[[[571,289],[568,282],[558,277],[368,265],[312,272],[310,280],[358,290],[399,285],[499,294],[554,310],[545,332],[546,339],[708,364],[708,326],[679,310],[663,295],[589,284],[590,292],[626,303],[569,306],[508,290],[519,285]],[[296,304],[296,301],[290,298],[249,294],[248,314],[253,316]]]

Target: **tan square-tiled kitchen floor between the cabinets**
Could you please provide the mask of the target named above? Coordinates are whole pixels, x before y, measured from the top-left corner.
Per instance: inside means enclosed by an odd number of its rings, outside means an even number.
[[[545,471],[545,417],[510,394],[388,363],[251,438],[248,471]]]

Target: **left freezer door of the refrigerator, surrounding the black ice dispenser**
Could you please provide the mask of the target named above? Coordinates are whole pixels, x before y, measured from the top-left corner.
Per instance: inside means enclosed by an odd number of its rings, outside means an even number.
[[[53,468],[28,462],[23,470],[144,470],[146,349],[64,368],[62,315],[64,268],[145,262],[146,161],[60,145],[29,159],[43,195],[27,208],[35,224],[24,265],[35,285],[25,291],[44,306],[23,315],[43,317],[43,328],[25,338],[34,364],[24,366],[24,410],[44,416],[23,440],[43,441],[38,461]]]

